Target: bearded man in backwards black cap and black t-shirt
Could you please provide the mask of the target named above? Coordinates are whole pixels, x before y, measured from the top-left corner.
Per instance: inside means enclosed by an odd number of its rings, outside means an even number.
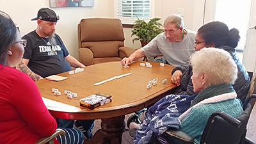
[[[22,62],[17,69],[25,72],[34,81],[42,77],[60,74],[72,70],[72,67],[85,67],[70,56],[59,35],[55,33],[55,25],[60,19],[56,13],[49,8],[41,8],[35,19],[37,28],[22,39],[27,40]],[[64,120],[56,118],[58,127],[73,128],[74,120]],[[90,133],[94,120],[79,120],[76,123],[81,124],[84,136],[92,138]]]

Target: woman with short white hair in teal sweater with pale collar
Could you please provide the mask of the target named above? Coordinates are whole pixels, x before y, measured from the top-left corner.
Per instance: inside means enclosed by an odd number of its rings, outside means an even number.
[[[223,111],[236,117],[243,113],[241,100],[232,86],[237,79],[237,65],[223,49],[204,48],[191,56],[191,77],[194,92],[198,93],[190,108],[179,116],[180,131],[200,143],[209,116]]]

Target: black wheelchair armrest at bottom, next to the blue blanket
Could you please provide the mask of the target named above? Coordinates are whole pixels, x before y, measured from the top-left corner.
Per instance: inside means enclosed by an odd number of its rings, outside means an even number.
[[[179,130],[168,129],[162,135],[169,140],[179,141],[181,143],[194,143],[194,139],[191,136]]]

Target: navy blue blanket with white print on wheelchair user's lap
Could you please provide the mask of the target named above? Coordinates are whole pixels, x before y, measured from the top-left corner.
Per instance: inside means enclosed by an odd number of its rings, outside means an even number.
[[[170,127],[179,129],[179,116],[189,108],[191,100],[195,99],[196,95],[166,95],[156,102],[148,109],[143,123],[137,129],[134,143],[148,143],[153,132],[161,135]]]

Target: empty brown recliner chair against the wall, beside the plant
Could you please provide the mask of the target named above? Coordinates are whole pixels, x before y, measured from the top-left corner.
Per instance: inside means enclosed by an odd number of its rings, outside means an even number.
[[[79,61],[84,65],[121,61],[135,50],[124,47],[120,19],[82,19],[78,24]]]

